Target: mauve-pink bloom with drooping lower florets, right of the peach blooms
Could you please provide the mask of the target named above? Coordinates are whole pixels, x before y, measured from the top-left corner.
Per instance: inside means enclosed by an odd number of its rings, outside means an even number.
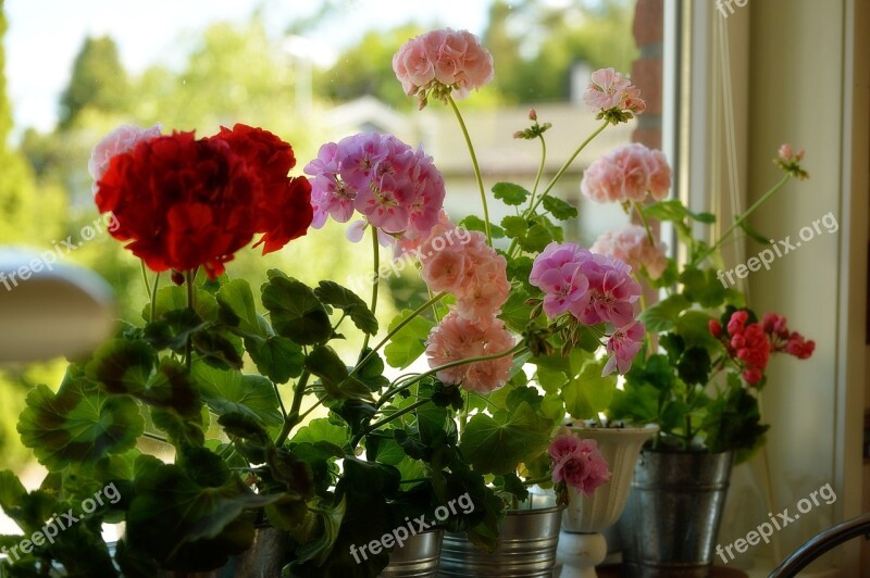
[[[624,374],[641,349],[644,326],[635,319],[634,303],[641,286],[631,266],[575,243],[551,242],[535,259],[529,282],[544,291],[544,313],[557,317],[570,313],[584,325],[609,324],[610,359],[604,375],[614,368]]]

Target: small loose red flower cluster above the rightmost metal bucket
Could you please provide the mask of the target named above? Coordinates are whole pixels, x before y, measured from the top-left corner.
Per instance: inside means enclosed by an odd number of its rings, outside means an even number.
[[[743,369],[743,378],[755,386],[765,377],[771,353],[785,352],[799,360],[812,355],[813,341],[808,341],[797,331],[790,331],[785,317],[766,313],[760,323],[750,323],[749,313],[738,310],[731,314],[725,332],[722,324],[710,319],[710,334],[720,339],[729,356]]]

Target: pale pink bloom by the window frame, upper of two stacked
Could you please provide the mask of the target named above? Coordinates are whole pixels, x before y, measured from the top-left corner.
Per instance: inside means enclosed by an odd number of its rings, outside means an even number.
[[[659,150],[638,142],[617,148],[583,172],[580,190],[599,203],[643,202],[647,192],[660,201],[671,188],[671,167]]]

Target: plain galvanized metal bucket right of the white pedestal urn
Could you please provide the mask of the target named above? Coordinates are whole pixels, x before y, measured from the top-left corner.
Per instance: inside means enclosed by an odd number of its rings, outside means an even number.
[[[642,452],[621,522],[624,576],[709,576],[733,461],[733,452]]]

